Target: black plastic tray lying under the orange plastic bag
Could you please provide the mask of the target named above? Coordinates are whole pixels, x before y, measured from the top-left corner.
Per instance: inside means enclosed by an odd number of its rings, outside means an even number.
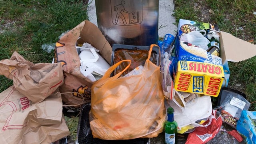
[[[78,122],[78,143],[79,144],[147,144],[149,138],[136,138],[132,140],[102,140],[93,138],[90,130],[89,112],[91,103],[83,104]]]

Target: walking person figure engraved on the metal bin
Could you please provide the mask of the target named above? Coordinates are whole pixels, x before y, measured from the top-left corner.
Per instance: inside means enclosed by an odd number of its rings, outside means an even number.
[[[119,18],[122,19],[124,24],[127,24],[126,19],[125,19],[124,15],[122,14],[123,12],[128,13],[128,11],[125,10],[125,8],[124,8],[124,4],[125,4],[125,1],[122,0],[121,4],[114,6],[114,11],[116,12],[116,19],[115,19],[116,24],[117,24]]]

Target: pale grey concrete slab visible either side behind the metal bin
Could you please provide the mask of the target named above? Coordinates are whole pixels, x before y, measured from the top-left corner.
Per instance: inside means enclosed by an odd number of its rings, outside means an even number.
[[[159,10],[158,10],[158,36],[164,37],[165,34],[176,35],[177,26],[175,23],[175,17],[172,16],[174,13],[174,2],[173,0],[159,0]],[[95,0],[89,0],[88,3],[88,16],[90,22],[98,26]]]

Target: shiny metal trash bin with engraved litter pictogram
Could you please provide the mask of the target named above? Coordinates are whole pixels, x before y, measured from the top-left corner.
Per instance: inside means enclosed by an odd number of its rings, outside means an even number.
[[[159,0],[95,0],[98,28],[112,44],[158,42]]]

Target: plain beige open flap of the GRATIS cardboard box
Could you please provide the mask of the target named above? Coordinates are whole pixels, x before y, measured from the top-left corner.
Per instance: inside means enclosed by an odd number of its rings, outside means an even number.
[[[227,32],[220,32],[222,47],[225,49],[226,60],[240,62],[256,56],[256,45],[236,38]]]

